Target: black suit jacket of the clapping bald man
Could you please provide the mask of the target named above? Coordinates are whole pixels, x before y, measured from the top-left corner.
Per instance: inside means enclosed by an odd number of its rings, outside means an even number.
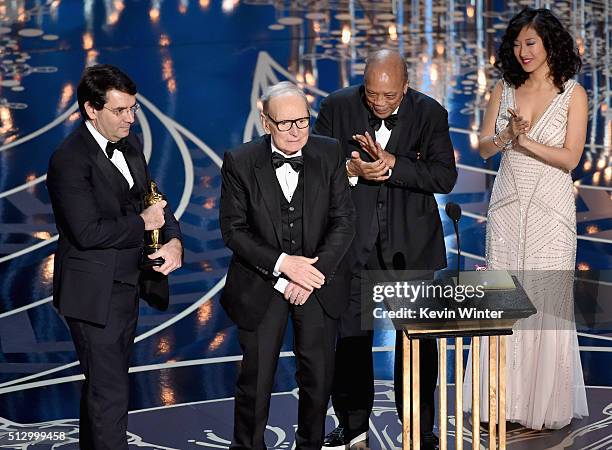
[[[346,158],[358,151],[364,161],[371,161],[352,138],[365,131],[375,135],[368,115],[363,86],[341,89],[322,101],[313,133],[338,139]],[[433,194],[450,192],[457,179],[447,116],[434,99],[408,89],[385,148],[396,157],[391,177],[384,183],[359,179],[351,188],[357,232],[350,255],[357,268],[367,262],[376,230],[388,268],[446,266],[444,233]]]

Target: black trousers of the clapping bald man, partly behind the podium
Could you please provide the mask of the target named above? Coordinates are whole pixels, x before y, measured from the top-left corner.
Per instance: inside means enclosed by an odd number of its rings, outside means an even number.
[[[375,246],[363,270],[386,270],[379,246]],[[433,274],[431,274],[433,275]],[[340,317],[336,362],[332,386],[332,404],[340,426],[349,433],[361,433],[369,428],[374,405],[374,363],[372,343],[374,332],[364,330],[361,322],[361,270],[353,273],[348,309]],[[402,332],[396,332],[394,391],[395,406],[402,420],[403,383]],[[435,390],[438,378],[438,347],[435,339],[420,343],[421,432],[433,431]]]

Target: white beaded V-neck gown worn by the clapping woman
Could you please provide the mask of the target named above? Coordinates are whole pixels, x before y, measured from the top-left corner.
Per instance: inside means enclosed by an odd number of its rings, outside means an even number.
[[[528,136],[562,147],[568,107],[576,86],[565,83]],[[496,131],[516,109],[514,88],[504,83]],[[558,429],[588,415],[573,310],[576,206],[570,173],[514,149],[502,153],[486,230],[488,270],[517,271],[538,312],[520,321],[507,339],[506,420],[527,428]],[[489,420],[488,339],[481,341],[482,421]],[[471,351],[464,410],[471,410]]]

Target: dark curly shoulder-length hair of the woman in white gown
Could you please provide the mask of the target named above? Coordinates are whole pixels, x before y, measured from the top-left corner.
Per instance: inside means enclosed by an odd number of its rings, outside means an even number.
[[[580,71],[582,61],[574,38],[549,9],[527,7],[510,19],[497,50],[495,67],[502,72],[504,80],[515,88],[529,78],[514,56],[514,41],[526,26],[532,27],[542,39],[550,76],[559,93],[563,92],[563,84]]]

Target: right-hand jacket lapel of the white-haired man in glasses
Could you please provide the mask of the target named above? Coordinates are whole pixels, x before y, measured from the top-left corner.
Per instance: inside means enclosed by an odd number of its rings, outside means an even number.
[[[313,151],[309,150],[310,140],[306,143],[302,149],[302,156],[304,158],[304,210],[302,211],[302,237],[304,248],[309,243],[316,243],[317,239],[314,236],[310,236],[308,233],[313,227],[311,223],[313,220],[318,220],[315,217],[315,211],[317,211],[317,197],[323,180],[321,174],[323,170],[321,168],[321,159],[316,156]],[[316,228],[316,227],[315,227]]]

